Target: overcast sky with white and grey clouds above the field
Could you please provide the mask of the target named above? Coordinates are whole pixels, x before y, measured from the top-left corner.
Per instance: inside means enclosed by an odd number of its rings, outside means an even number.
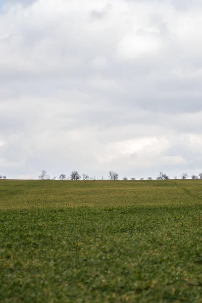
[[[202,171],[201,0],[0,0],[0,174]]]

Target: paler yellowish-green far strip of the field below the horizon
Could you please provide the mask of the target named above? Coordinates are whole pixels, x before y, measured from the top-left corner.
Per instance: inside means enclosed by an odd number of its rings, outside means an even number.
[[[193,206],[202,201],[202,180],[0,180],[0,201],[0,209]]]

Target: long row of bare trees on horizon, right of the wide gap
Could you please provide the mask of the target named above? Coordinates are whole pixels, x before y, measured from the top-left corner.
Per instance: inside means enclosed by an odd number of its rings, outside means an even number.
[[[185,180],[188,179],[188,174],[187,173],[182,173],[181,177],[179,179]],[[198,176],[197,175],[191,175],[191,179],[198,179],[198,177],[200,179],[202,179],[202,173],[199,173]],[[89,177],[87,174],[79,174],[78,171],[74,170],[71,172],[71,174],[69,176],[67,176],[66,174],[61,174],[58,177],[54,176],[53,178],[51,178],[47,172],[45,170],[42,170],[41,174],[38,176],[38,179],[40,180],[72,180],[72,181],[76,181],[76,180],[98,180],[95,176],[93,177]],[[108,180],[119,180],[119,174],[117,172],[114,171],[109,171],[108,173]],[[99,180],[107,180],[104,177],[102,177]],[[178,179],[177,176],[170,178],[167,174],[160,172],[159,175],[156,178],[157,180],[169,180],[169,179]],[[135,181],[136,178],[132,177],[130,179],[128,179],[127,177],[123,178],[124,181]],[[140,178],[139,180],[144,180],[144,178]],[[153,180],[152,177],[147,177],[146,180]]]

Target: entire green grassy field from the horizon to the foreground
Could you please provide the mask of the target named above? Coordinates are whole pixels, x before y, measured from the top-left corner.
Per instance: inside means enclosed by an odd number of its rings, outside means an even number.
[[[0,302],[202,302],[202,180],[0,180]]]

